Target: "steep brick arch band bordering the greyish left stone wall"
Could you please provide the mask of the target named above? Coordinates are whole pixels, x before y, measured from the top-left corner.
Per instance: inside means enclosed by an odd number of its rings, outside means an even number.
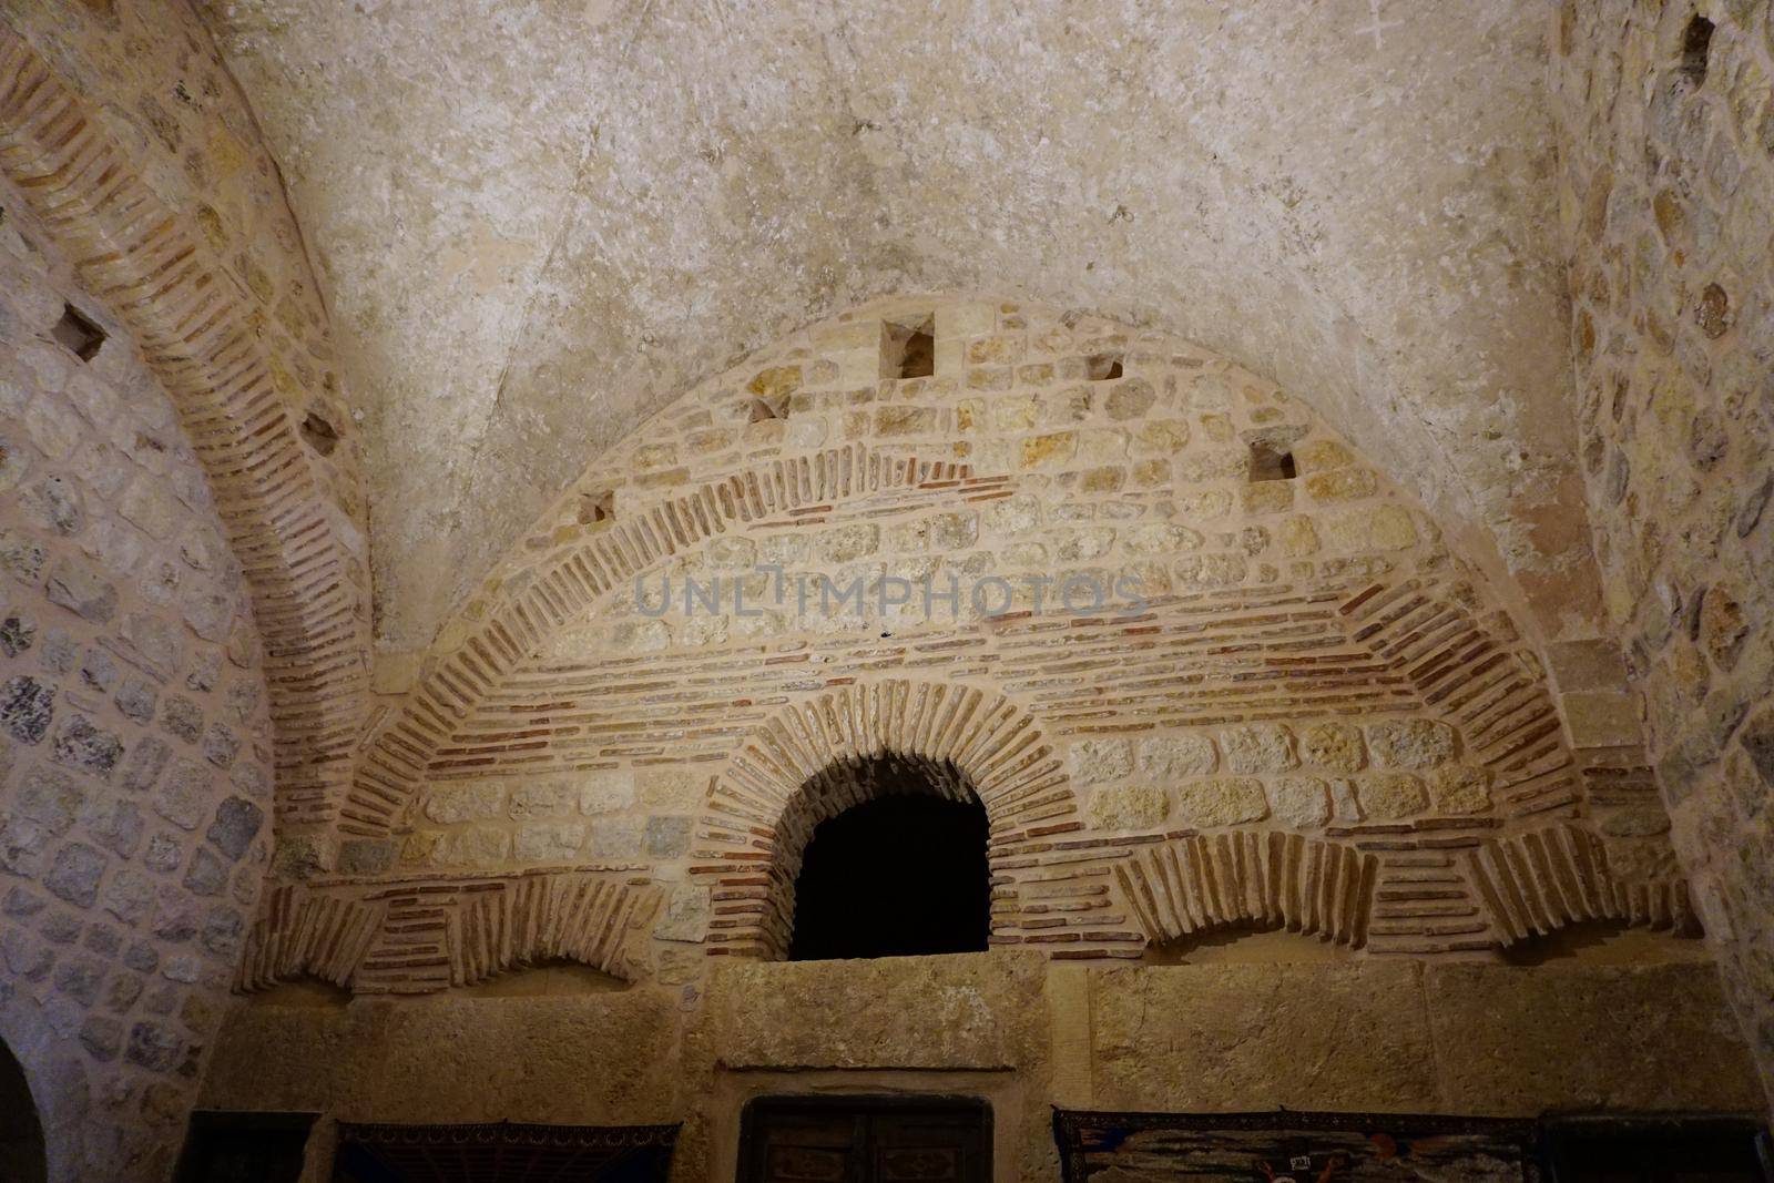
[[[362,722],[367,569],[360,527],[298,431],[303,392],[268,344],[266,310],[138,176],[90,103],[5,25],[0,172],[172,396],[264,639],[279,818],[328,821]]]

